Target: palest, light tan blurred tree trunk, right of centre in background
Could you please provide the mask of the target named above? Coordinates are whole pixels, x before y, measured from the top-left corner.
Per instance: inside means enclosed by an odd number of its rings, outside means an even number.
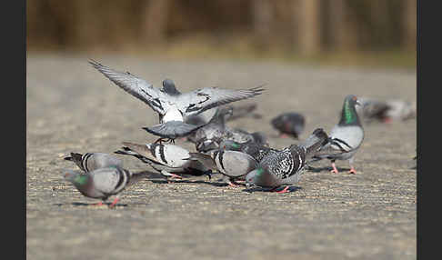
[[[321,50],[319,0],[294,1],[296,39],[301,55],[314,55]]]

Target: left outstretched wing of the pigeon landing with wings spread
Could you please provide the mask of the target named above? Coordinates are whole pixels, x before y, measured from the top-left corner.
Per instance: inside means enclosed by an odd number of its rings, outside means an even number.
[[[119,72],[105,65],[101,65],[94,60],[89,60],[89,64],[95,67],[105,77],[110,79],[113,83],[123,88],[130,95],[134,95],[160,115],[165,115],[165,107],[163,100],[166,95],[152,84],[147,83],[144,79],[132,75],[129,72]]]

